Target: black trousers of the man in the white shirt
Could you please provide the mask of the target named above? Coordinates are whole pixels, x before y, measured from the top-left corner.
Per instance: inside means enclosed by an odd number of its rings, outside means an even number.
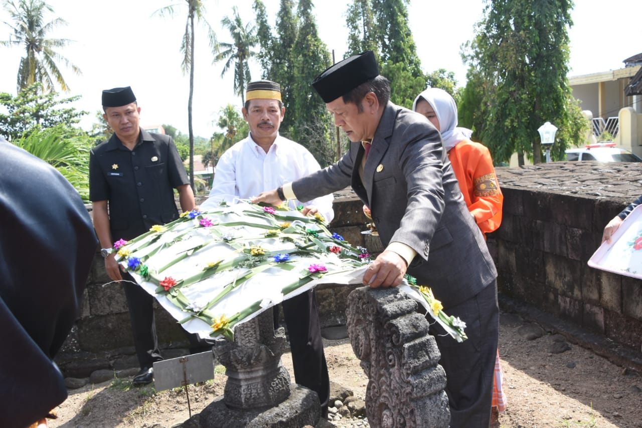
[[[280,306],[290,336],[295,382],[318,394],[321,413],[327,416],[330,379],[321,339],[317,296],[314,290],[309,290],[283,301]],[[279,308],[274,307],[274,311],[277,320]]]

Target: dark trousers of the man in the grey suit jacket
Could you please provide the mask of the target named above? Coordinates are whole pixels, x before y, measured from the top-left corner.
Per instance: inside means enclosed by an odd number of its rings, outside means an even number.
[[[466,323],[468,336],[463,343],[457,343],[437,323],[431,326],[441,352],[439,364],[446,371],[450,426],[488,428],[499,334],[497,281],[473,298],[444,308],[444,312],[460,317]]]

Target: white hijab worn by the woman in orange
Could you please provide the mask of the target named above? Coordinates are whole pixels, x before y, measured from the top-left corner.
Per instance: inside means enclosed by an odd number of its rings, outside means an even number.
[[[423,98],[426,100],[437,114],[439,120],[439,132],[444,140],[444,148],[450,151],[462,139],[469,139],[473,131],[467,128],[457,127],[457,105],[453,97],[443,89],[429,87],[426,91],[417,95],[415,102],[412,103],[412,109],[415,110],[417,102]]]

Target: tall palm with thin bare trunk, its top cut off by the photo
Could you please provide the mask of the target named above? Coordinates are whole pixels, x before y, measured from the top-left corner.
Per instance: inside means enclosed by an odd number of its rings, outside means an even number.
[[[205,4],[204,0],[185,0],[187,3],[187,22],[185,25],[185,32],[183,33],[183,41],[180,44],[180,51],[183,54],[182,69],[183,73],[189,70],[189,98],[187,100],[187,128],[189,130],[189,183],[194,190],[194,129],[192,127],[192,100],[194,95],[194,42],[195,31],[194,21],[202,22],[207,30],[207,40],[209,47],[213,53],[218,51],[218,44],[216,43],[216,34],[212,26],[205,19]],[[170,4],[154,12],[154,15],[164,17],[175,15],[175,8],[178,4]]]

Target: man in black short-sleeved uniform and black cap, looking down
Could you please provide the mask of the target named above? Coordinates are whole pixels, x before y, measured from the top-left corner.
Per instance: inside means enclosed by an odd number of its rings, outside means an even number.
[[[178,150],[169,136],[152,134],[139,126],[141,107],[130,87],[103,91],[103,117],[114,130],[110,139],[89,154],[89,199],[93,202],[94,227],[101,248],[110,248],[119,239],[130,240],[156,224],[178,218],[173,188],[177,188],[180,208],[195,207]],[[156,337],[153,297],[115,260],[105,258],[109,278],[123,280],[134,346],[141,371],[134,385],[153,380],[153,363],[162,360]],[[132,281],[132,282],[128,282]],[[194,343],[190,337],[190,342]]]

